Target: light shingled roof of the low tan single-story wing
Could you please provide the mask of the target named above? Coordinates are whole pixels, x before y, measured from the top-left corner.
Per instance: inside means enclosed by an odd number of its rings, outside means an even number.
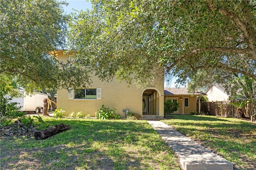
[[[164,94],[165,95],[197,95],[197,96],[206,95],[204,92],[200,90],[194,93],[189,93],[188,88],[171,88],[171,87],[164,88]]]

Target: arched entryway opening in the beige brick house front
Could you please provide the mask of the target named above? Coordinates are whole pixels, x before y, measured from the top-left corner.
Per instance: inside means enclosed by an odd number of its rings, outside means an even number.
[[[142,94],[142,115],[159,115],[159,93],[146,89]]]

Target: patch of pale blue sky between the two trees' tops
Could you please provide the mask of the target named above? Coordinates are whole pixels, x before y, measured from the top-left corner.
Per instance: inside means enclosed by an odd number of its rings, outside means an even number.
[[[63,6],[64,11],[66,12],[66,14],[70,14],[71,12],[74,12],[73,9],[75,10],[83,10],[85,11],[86,9],[89,9],[92,7],[92,4],[90,3],[90,1],[86,1],[86,0],[66,0],[66,2],[68,3],[68,6]]]

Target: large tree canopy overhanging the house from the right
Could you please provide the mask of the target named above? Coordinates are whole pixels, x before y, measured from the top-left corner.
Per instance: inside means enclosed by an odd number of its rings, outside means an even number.
[[[143,84],[162,66],[191,90],[226,83],[256,96],[254,0],[92,0],[72,19],[70,48],[103,80]]]

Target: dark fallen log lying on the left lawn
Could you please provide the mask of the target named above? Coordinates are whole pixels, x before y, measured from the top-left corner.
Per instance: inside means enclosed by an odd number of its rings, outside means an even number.
[[[41,130],[41,131],[35,131],[34,137],[36,140],[38,139],[45,139],[47,137],[50,137],[52,135],[55,135],[56,133],[60,133],[62,131],[70,129],[69,125],[66,125],[64,123],[60,123],[59,125],[55,125],[53,127],[49,127],[47,129]]]

